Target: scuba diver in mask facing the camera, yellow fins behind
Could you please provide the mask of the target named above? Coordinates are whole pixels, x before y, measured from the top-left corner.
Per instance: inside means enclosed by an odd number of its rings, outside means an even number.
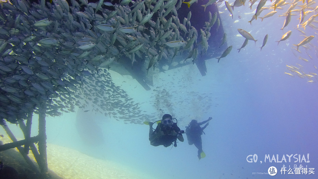
[[[174,118],[176,119],[176,118]],[[149,141],[152,146],[163,145],[169,147],[173,142],[174,146],[177,146],[177,139],[181,142],[184,141],[182,133],[183,130],[177,126],[177,122],[172,122],[172,116],[170,114],[164,114],[155,129],[152,128],[154,122],[144,122],[149,125]],[[158,122],[156,121],[156,122]]]

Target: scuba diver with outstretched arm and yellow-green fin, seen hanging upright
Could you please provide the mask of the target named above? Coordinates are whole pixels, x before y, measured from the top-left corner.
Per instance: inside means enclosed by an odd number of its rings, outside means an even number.
[[[205,129],[205,127],[207,127],[209,125],[209,123],[206,123],[206,122],[209,122],[211,119],[212,119],[212,117],[209,117],[208,120],[205,120],[203,122],[197,122],[197,120],[191,120],[191,122],[189,123],[189,125],[185,129],[185,134],[187,135],[188,144],[189,145],[194,144],[198,149],[199,160],[201,158],[205,157],[205,153],[202,150],[201,135],[202,135],[202,133],[204,133],[203,130]],[[204,123],[206,123],[204,125],[204,127],[201,127],[200,125],[202,125]]]

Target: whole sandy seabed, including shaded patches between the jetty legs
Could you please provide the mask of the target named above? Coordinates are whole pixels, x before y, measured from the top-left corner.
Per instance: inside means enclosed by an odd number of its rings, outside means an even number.
[[[3,143],[12,142],[9,138],[1,138]],[[26,162],[17,148],[0,152],[0,160],[4,165],[15,168],[19,173],[27,169]],[[9,154],[10,153],[10,154]],[[35,161],[30,150],[29,157]],[[105,161],[82,154],[71,148],[47,144],[48,168],[64,179],[150,179],[142,173],[133,171],[121,164]]]

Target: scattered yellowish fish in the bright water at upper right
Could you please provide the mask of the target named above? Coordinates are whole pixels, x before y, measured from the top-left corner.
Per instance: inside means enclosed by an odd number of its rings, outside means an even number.
[[[258,0],[250,0],[250,8],[252,10],[252,6],[254,5],[254,3],[256,3]],[[223,0],[219,0],[218,3],[222,3]],[[294,25],[294,29],[301,32],[304,36],[303,40],[301,40],[298,44],[294,44],[295,47],[291,48],[291,52],[294,54],[295,57],[298,57],[298,59],[305,61],[305,62],[309,62],[308,59],[302,57],[303,54],[301,54],[300,48],[299,47],[304,47],[305,48],[305,53],[308,55],[308,57],[311,60],[315,60],[315,58],[313,58],[307,51],[312,49],[310,46],[308,46],[308,43],[310,43],[311,40],[313,40],[315,38],[315,35],[318,35],[317,31],[318,28],[316,27],[316,23],[318,23],[318,21],[315,21],[315,17],[318,16],[318,6],[316,5],[316,2],[314,0],[292,0],[292,1],[287,1],[287,0],[271,0],[271,4],[270,5],[265,5],[266,2],[269,2],[268,0],[260,0],[257,4],[256,10],[255,10],[255,14],[252,16],[252,19],[250,21],[248,21],[251,25],[252,25],[252,21],[253,20],[257,20],[257,18],[260,18],[261,21],[263,22],[263,19],[268,18],[268,17],[272,17],[274,16],[278,11],[284,11],[282,13],[282,15],[279,16],[284,16],[285,20],[283,22],[281,22],[282,24],[282,28],[281,30],[284,30],[284,28],[286,28],[290,21],[291,21],[291,17],[292,16],[298,16],[299,17],[299,23],[298,24],[293,24]],[[234,11],[234,7],[240,7],[242,5],[245,5],[245,0],[235,0],[235,2],[233,3],[233,5],[230,5],[230,3],[228,3],[227,1],[225,1],[225,6],[227,8],[227,10],[229,11],[230,15],[233,18],[233,13],[235,14]],[[220,5],[221,6],[221,5]],[[254,5],[256,6],[256,5]],[[253,6],[253,7],[254,7]],[[237,9],[237,8],[236,8]],[[233,12],[234,11],[234,12]],[[268,11],[267,14],[262,13],[263,11]],[[265,14],[263,17],[261,17],[262,14]],[[292,26],[292,25],[289,25]],[[306,36],[306,28],[308,29],[308,27],[311,28],[310,30],[310,35]],[[301,30],[303,28],[303,31]],[[314,30],[314,31],[313,31]],[[243,36],[245,38],[244,43],[242,44],[242,46],[238,49],[239,52],[241,51],[242,48],[244,48],[249,40],[252,40],[255,42],[256,45],[256,41],[252,35],[243,30],[243,29],[238,29],[239,34],[241,36]],[[316,32],[315,32],[316,31]],[[278,42],[278,45],[281,41],[285,41],[287,40],[289,37],[291,37],[292,35],[292,31],[287,31],[280,40],[276,41]],[[269,36],[268,34],[265,35],[264,39],[263,39],[263,44],[260,47],[260,50],[262,50],[262,48],[266,45],[266,42],[268,40]],[[318,58],[318,48],[315,45],[311,45],[315,54]],[[225,50],[225,52],[222,54],[221,57],[226,56],[226,54],[228,54],[229,52],[228,49]],[[221,58],[220,57],[220,58]],[[218,61],[220,58],[217,58]],[[315,68],[315,70],[317,70],[317,67],[315,65],[313,65],[313,67]],[[307,82],[313,83],[316,82],[317,79],[317,74],[315,72],[304,72],[304,68],[302,65],[300,64],[296,64],[296,65],[287,65],[287,70],[289,70],[289,72],[285,72],[285,74],[294,77],[295,75],[299,76],[300,78],[304,78],[304,79],[308,79]]]

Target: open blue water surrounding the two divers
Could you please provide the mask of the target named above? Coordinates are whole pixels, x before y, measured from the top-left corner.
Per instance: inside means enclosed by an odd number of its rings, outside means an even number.
[[[210,116],[213,117],[204,130],[205,134],[202,135],[205,158],[198,160],[197,148],[188,145],[185,135],[185,141],[178,142],[176,148],[153,147],[148,140],[149,126],[123,124],[95,114],[92,114],[91,119],[87,119],[87,128],[82,128],[80,132],[74,126],[74,113],[55,118],[47,117],[47,142],[74,148],[99,159],[121,163],[141,175],[148,174],[156,179],[262,179],[271,177],[268,174],[259,174],[267,172],[271,166],[278,169],[276,178],[316,178],[317,174],[295,175],[286,172],[282,175],[280,169],[283,165],[287,170],[289,167],[294,169],[294,165],[318,167],[318,78],[315,76],[312,78],[314,83],[310,83],[308,78],[300,78],[294,73],[294,77],[284,74],[290,73],[286,65],[297,66],[296,64],[302,65],[301,70],[306,74],[318,73],[314,67],[318,67],[315,52],[318,45],[317,37],[311,41],[312,45],[307,44],[309,50],[299,47],[299,53],[291,49],[292,44],[298,44],[304,38],[300,36],[300,32],[294,30],[299,23],[298,16],[293,16],[289,25],[282,31],[280,28],[284,17],[277,17],[277,14],[284,10],[279,10],[263,22],[254,20],[250,25],[247,21],[251,19],[252,14],[244,14],[251,12],[247,6],[234,8],[234,20],[224,9],[225,6],[219,8],[220,11],[224,11],[221,18],[227,33],[227,45],[233,45],[231,53],[219,63],[217,59],[207,60],[207,74],[204,77],[195,65],[191,65],[159,74],[158,78],[165,81],[157,80],[156,83],[156,86],[165,86],[172,95],[171,99],[178,99],[172,100],[171,103],[175,109],[173,117],[182,118],[179,124],[181,129],[185,130],[186,124],[194,118],[203,121]],[[260,16],[266,13],[264,11]],[[239,19],[238,15],[242,18]],[[305,20],[311,15],[313,13],[306,16]],[[235,20],[239,22],[233,23]],[[249,41],[238,53],[236,49],[244,42],[243,37],[236,36],[238,28],[249,31],[258,39],[256,46],[253,41]],[[292,36],[277,45],[275,41],[289,30],[293,31]],[[315,36],[315,32],[317,30],[306,28],[307,36]],[[259,47],[266,34],[269,36],[268,41],[260,51]],[[308,54],[313,59],[310,59]],[[308,59],[309,62],[298,59],[299,56]],[[168,74],[174,75],[174,78]],[[124,86],[127,93],[135,101],[146,101],[148,104],[143,105],[142,110],[149,111],[149,114],[156,112],[152,107],[154,98],[151,98],[154,92],[143,91],[140,86],[135,89],[133,87],[138,84],[129,79],[125,81],[130,83]],[[121,84],[121,81],[118,80],[117,83]],[[172,83],[175,85],[171,85]],[[178,87],[179,85],[185,85],[186,88]],[[156,89],[156,86],[153,89]],[[140,95],[141,93],[144,95]],[[193,93],[200,96],[208,95],[209,100],[195,99]],[[192,99],[191,103],[188,102],[189,99]],[[204,110],[189,110],[196,107]],[[158,114],[158,120],[163,114]],[[80,137],[81,134],[90,136],[86,134],[92,131],[88,129],[90,120],[98,124],[103,142],[89,143]],[[33,126],[35,128],[32,130],[36,134],[36,122]],[[16,129],[11,126],[11,130]],[[258,156],[257,162],[248,162],[247,156],[254,154]],[[295,162],[296,159],[293,157],[289,162],[286,155],[295,154],[300,154],[301,158],[304,155],[306,161],[309,154],[310,162]],[[273,155],[278,155],[278,161],[282,161],[285,155],[287,162],[269,162],[267,159],[265,163],[265,155],[269,155],[270,159]]]

